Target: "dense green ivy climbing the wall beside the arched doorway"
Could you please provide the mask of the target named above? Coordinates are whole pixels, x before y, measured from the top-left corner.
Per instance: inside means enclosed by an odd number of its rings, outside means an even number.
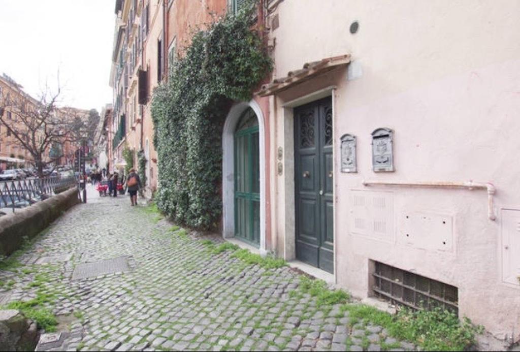
[[[222,128],[233,101],[248,101],[271,69],[252,29],[255,6],[192,37],[166,83],[154,91],[160,210],[177,223],[216,227],[222,213]]]

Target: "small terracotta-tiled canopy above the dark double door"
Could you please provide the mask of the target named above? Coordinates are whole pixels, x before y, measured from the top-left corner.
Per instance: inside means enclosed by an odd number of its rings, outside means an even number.
[[[262,89],[256,94],[261,97],[266,97],[268,95],[280,93],[285,89],[289,89],[295,85],[306,82],[318,75],[327,73],[342,66],[347,66],[349,62],[349,54],[321,59],[319,61],[307,62],[304,64],[303,69],[289,71],[287,77],[277,78],[272,80],[272,82],[269,84],[264,84]]]

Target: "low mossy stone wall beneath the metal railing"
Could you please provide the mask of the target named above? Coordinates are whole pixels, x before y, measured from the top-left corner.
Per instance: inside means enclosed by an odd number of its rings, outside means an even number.
[[[35,237],[63,212],[79,202],[77,189],[73,188],[0,217],[0,255],[15,252],[22,245],[24,237]]]

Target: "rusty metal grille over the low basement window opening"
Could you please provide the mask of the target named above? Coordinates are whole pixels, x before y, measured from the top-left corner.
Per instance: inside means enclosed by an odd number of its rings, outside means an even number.
[[[413,309],[459,310],[459,290],[455,286],[379,262],[375,262],[373,276],[376,295],[394,304]]]

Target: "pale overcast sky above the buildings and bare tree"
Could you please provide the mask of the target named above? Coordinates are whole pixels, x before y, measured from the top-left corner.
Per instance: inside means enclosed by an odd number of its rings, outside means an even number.
[[[114,0],[0,0],[0,75],[33,97],[63,87],[61,105],[97,109],[112,102],[108,86]]]

